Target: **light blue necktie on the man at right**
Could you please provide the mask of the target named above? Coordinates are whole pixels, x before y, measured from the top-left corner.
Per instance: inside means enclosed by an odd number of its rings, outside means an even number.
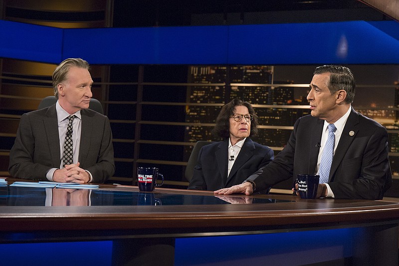
[[[328,182],[331,163],[333,162],[333,156],[334,156],[334,145],[335,145],[334,132],[336,130],[337,128],[334,126],[334,124],[328,125],[327,143],[326,146],[324,147],[323,155],[321,157],[321,162],[320,162],[320,169],[319,169],[320,184]]]

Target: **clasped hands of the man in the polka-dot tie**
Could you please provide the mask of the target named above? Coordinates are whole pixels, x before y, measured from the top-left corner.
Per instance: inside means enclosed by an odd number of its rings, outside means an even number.
[[[57,169],[53,174],[55,182],[88,183],[89,173],[79,167],[80,163],[65,165],[65,168]]]

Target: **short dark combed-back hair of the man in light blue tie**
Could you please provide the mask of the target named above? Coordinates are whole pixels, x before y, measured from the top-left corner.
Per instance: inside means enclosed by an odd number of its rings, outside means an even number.
[[[330,80],[327,84],[331,94],[338,90],[346,91],[346,103],[352,103],[355,98],[355,78],[348,67],[340,65],[322,65],[316,67],[313,75],[331,73]]]

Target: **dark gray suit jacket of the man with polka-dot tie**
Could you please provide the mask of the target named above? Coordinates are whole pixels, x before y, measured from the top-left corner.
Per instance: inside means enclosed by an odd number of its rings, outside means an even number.
[[[80,168],[89,171],[94,183],[104,183],[115,172],[112,132],[106,116],[82,109],[79,151]],[[47,180],[46,173],[61,164],[55,104],[21,116],[9,154],[12,177]]]

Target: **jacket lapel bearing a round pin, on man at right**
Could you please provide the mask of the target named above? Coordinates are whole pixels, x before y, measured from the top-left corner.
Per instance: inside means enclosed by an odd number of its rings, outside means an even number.
[[[352,108],[352,107],[351,107]],[[340,165],[342,159],[344,158],[346,152],[351,146],[352,141],[355,139],[356,134],[359,131],[358,124],[359,116],[356,111],[352,108],[349,114],[348,120],[346,121],[344,130],[342,131],[340,142],[338,143],[337,149],[334,154],[333,162],[331,163],[329,181]]]

